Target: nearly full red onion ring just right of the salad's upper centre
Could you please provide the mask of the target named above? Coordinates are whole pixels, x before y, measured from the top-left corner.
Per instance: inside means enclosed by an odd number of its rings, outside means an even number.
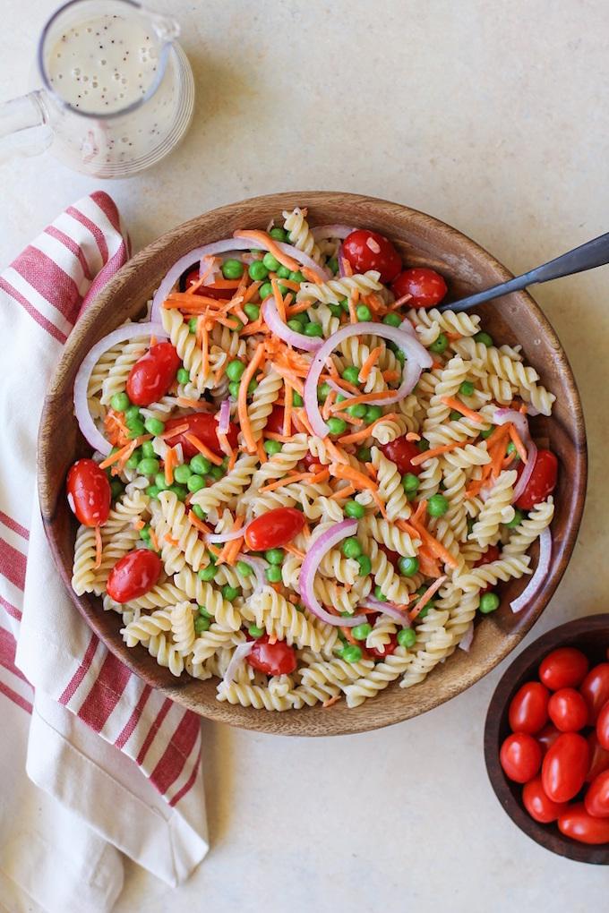
[[[332,333],[330,339],[326,340],[323,345],[321,345],[318,352],[316,352],[305,381],[305,409],[307,410],[311,427],[319,437],[326,437],[330,432],[328,425],[326,425],[321,417],[320,407],[317,402],[317,385],[320,380],[320,373],[325,367],[326,360],[342,340],[349,339],[351,336],[364,336],[366,334],[380,336],[383,339],[388,339],[397,343],[406,356],[402,383],[399,388],[392,396],[369,400],[369,405],[391,405],[393,403],[399,403],[400,400],[404,399],[404,396],[411,392],[415,383],[421,376],[423,368],[431,367],[431,355],[427,352],[425,347],[407,332],[400,330],[398,327],[389,327],[384,323],[373,323],[371,321],[349,323],[344,327],[341,327],[340,330]]]

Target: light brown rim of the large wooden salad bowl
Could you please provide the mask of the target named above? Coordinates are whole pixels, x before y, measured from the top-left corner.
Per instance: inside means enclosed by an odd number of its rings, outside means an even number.
[[[240,215],[243,214],[244,217],[247,217],[247,210],[249,208],[261,205],[272,205],[277,212],[280,212],[283,208],[293,206],[295,199],[305,199],[310,202],[310,205],[324,205],[324,203],[327,203],[328,196],[334,196],[336,199],[340,199],[341,202],[344,203],[348,202],[360,206],[373,206],[373,218],[376,220],[382,219],[383,216],[385,218],[390,218],[392,215],[400,215],[402,217],[405,215],[413,224],[421,229],[422,235],[425,235],[425,233],[429,234],[431,231],[433,231],[445,237],[454,238],[459,246],[460,257],[463,257],[466,260],[478,259],[483,261],[488,266],[488,268],[491,268],[495,272],[495,274],[498,276],[498,281],[501,281],[502,279],[507,280],[509,278],[513,278],[513,274],[511,274],[506,267],[500,264],[495,257],[489,254],[485,248],[478,245],[468,236],[462,234],[457,230],[457,228],[449,226],[435,216],[427,215],[419,210],[413,209],[410,206],[392,203],[391,201],[371,197],[365,194],[348,194],[342,192],[332,193],[330,191],[290,191],[287,193],[266,194],[262,196],[250,197],[246,200],[242,200],[233,204],[217,207],[201,215],[195,216],[193,219],[190,219],[189,221],[179,226],[174,227],[169,232],[153,241],[152,244],[144,247],[138,254],[131,257],[125,266],[117,271],[117,273],[110,279],[107,285],[105,285],[103,289],[100,290],[100,293],[91,302],[82,318],[75,325],[74,330],[70,333],[68,342],[64,346],[58,365],[56,366],[56,369],[49,383],[45,404],[43,406],[42,415],[40,418],[38,433],[38,452],[40,453],[41,450],[41,442],[47,436],[50,436],[53,433],[51,428],[51,417],[49,415],[49,405],[54,400],[55,396],[57,396],[58,387],[60,388],[61,386],[62,366],[66,362],[69,363],[73,360],[73,353],[78,348],[79,341],[83,336],[89,335],[89,332],[95,335],[95,325],[99,320],[101,313],[112,298],[114,289],[117,286],[121,285],[121,278],[125,272],[129,272],[129,274],[131,274],[140,268],[144,268],[145,265],[149,261],[152,261],[159,252],[163,251],[166,247],[170,247],[173,242],[178,241],[180,236],[182,236],[185,232],[196,230],[204,232],[205,226],[201,225],[202,220],[205,220],[206,222],[212,222],[213,220],[219,219],[228,220],[231,217],[235,216],[237,213]],[[391,231],[389,231],[388,234],[391,235]],[[162,276],[159,277],[159,281],[161,278]],[[206,719],[214,719],[215,721],[226,722],[229,725],[235,725],[241,729],[253,729],[263,732],[279,733],[282,735],[352,734],[355,732],[380,729],[383,726],[393,725],[394,723],[401,722],[404,719],[410,719],[411,717],[420,715],[420,713],[438,707],[439,705],[445,703],[446,700],[450,700],[451,698],[456,697],[462,691],[467,690],[468,687],[474,685],[481,677],[487,675],[488,672],[497,666],[499,662],[501,662],[505,656],[508,656],[511,650],[513,650],[514,647],[520,643],[524,635],[526,635],[526,633],[530,630],[530,627],[535,624],[541,615],[541,612],[549,603],[551,596],[561,581],[562,574],[566,570],[566,566],[571,559],[572,551],[583,515],[583,501],[585,497],[587,480],[587,448],[582,403],[566,352],[564,352],[562,345],[556,336],[556,333],[551,327],[551,323],[549,320],[547,320],[539,305],[534,301],[534,299],[530,297],[527,292],[514,292],[510,298],[512,300],[520,299],[523,304],[526,304],[526,306],[534,312],[535,319],[539,323],[541,331],[547,337],[553,349],[556,352],[561,353],[565,372],[564,380],[572,393],[573,400],[572,422],[570,425],[570,430],[572,431],[573,441],[577,446],[578,474],[576,481],[578,494],[580,497],[577,499],[575,510],[569,516],[568,522],[565,526],[565,536],[567,541],[563,555],[563,561],[559,562],[553,568],[552,575],[549,580],[545,582],[541,592],[536,594],[531,600],[530,606],[527,609],[526,617],[521,619],[518,629],[510,634],[504,635],[500,648],[497,649],[493,654],[491,665],[486,666],[482,670],[475,670],[473,667],[468,666],[467,669],[461,674],[458,681],[453,680],[450,683],[444,683],[444,691],[441,695],[438,696],[435,694],[433,697],[427,699],[423,709],[413,711],[409,707],[409,702],[406,698],[406,692],[404,692],[404,702],[399,710],[394,711],[391,719],[362,719],[360,714],[358,714],[358,708],[353,708],[349,710],[347,715],[349,719],[337,721],[337,715],[333,714],[332,728],[329,728],[328,731],[316,732],[310,731],[307,725],[304,724],[304,721],[301,721],[301,718],[308,715],[307,710],[310,708],[303,708],[298,713],[294,714],[278,714],[270,712],[263,713],[262,711],[257,711],[253,708],[247,708],[247,713],[238,714],[239,719],[237,719],[237,714],[235,711],[245,708],[233,708],[231,705],[221,702],[215,702],[213,707],[201,706],[196,701],[189,698],[188,695],[184,694],[183,689],[180,687],[164,686],[159,683],[155,683],[153,687],[159,688],[159,690],[162,691],[162,693],[167,697],[172,698],[173,700],[182,704],[185,708],[193,709],[195,712],[199,713],[201,716],[204,716]],[[121,320],[117,320],[116,326],[118,326],[120,323]],[[100,338],[99,335],[98,338]],[[103,642],[108,646],[110,651],[115,656],[120,658],[121,661],[131,669],[131,671],[135,672],[137,675],[143,677],[146,680],[150,680],[144,674],[143,664],[138,658],[139,651],[128,650],[125,645],[118,644],[111,638],[107,637],[106,632],[103,629],[103,625],[100,623],[101,619],[98,617],[99,614],[91,615],[88,610],[86,601],[73,592],[70,585],[70,575],[64,568],[63,562],[61,560],[58,542],[55,540],[53,535],[51,510],[45,509],[46,506],[53,503],[53,486],[50,477],[47,474],[46,465],[44,461],[41,463],[40,460],[38,462],[37,487],[43,525],[47,533],[47,540],[49,542],[49,546],[53,554],[56,566],[58,567],[60,577],[63,580],[66,589],[68,590],[68,594],[72,603],[77,606],[79,613],[85,618],[87,624],[89,624],[89,627],[91,627],[93,631],[100,637],[100,639],[103,640]],[[482,624],[487,621],[488,618],[485,618]],[[280,719],[279,723],[278,719]]]

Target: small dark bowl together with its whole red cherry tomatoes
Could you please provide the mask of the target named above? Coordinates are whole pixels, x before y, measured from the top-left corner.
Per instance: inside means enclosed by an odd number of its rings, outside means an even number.
[[[609,865],[609,614],[562,624],[517,656],[491,698],[484,750],[521,831]]]

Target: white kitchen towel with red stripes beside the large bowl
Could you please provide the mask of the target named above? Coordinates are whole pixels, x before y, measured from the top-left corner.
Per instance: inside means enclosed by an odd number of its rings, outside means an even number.
[[[91,633],[59,581],[37,503],[50,373],[79,313],[129,255],[117,208],[98,192],[69,206],[0,276],[0,707],[16,721],[0,747],[0,889],[7,878],[62,913],[111,908],[121,888],[114,847],[172,885],[208,849],[199,719]],[[3,808],[23,800],[26,785],[56,803],[47,834],[24,815],[40,805],[31,797],[14,813]],[[24,847],[47,846],[45,865],[14,845],[16,829]],[[53,872],[60,887],[47,884]]]

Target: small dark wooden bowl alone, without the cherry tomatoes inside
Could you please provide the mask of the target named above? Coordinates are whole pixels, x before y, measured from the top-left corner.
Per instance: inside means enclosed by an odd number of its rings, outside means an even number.
[[[609,647],[609,614],[587,615],[547,631],[523,650],[509,666],[495,688],[488,705],[484,728],[484,757],[488,779],[499,802],[509,817],[536,843],[552,853],[589,862],[595,866],[609,866],[609,844],[598,846],[579,844],[565,837],[556,824],[539,824],[533,821],[524,808],[520,795],[522,787],[508,780],[499,763],[499,749],[509,736],[509,703],[521,685],[537,678],[537,670],[544,656],[559,646],[576,646],[590,659],[591,666],[606,662]]]

